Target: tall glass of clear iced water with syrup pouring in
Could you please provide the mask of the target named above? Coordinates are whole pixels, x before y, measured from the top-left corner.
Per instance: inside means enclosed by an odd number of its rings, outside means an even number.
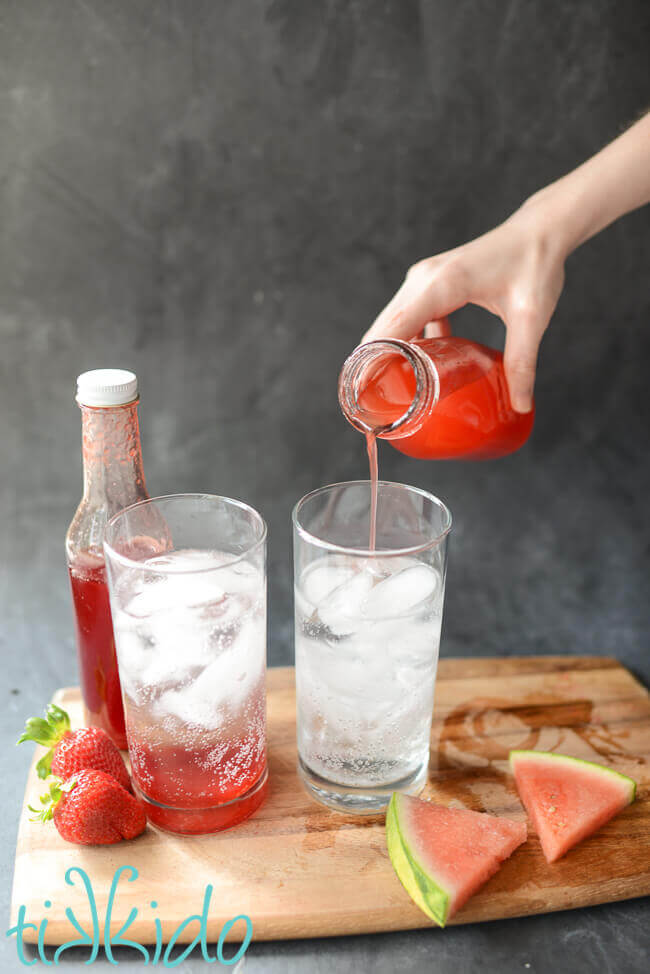
[[[293,511],[298,763],[307,790],[377,812],[426,782],[451,514],[415,487],[315,490]]]

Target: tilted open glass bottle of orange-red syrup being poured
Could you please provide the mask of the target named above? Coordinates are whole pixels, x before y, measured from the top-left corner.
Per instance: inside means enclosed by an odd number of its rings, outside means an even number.
[[[339,376],[346,419],[422,460],[490,460],[530,436],[535,411],[510,405],[503,355],[451,335],[359,345]]]

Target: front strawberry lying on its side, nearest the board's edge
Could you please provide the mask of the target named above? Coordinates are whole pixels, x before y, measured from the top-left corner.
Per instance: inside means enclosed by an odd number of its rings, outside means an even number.
[[[54,819],[61,838],[77,845],[134,839],[147,824],[142,803],[104,771],[78,771],[65,783],[53,778],[41,804],[40,810],[28,806],[36,814],[32,821]]]

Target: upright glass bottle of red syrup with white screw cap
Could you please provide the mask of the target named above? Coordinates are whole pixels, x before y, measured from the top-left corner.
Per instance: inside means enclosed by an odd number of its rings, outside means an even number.
[[[102,541],[107,521],[149,495],[133,372],[96,369],[77,379],[84,493],[65,540],[86,723],[126,747]]]

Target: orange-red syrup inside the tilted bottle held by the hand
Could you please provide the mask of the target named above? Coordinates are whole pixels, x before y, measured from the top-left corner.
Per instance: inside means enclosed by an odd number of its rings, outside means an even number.
[[[419,429],[411,432],[407,422],[399,431],[406,435],[385,435],[396,450],[422,460],[489,460],[526,442],[535,413],[516,413],[510,405],[501,352],[454,336],[414,344],[434,360],[440,395]],[[415,393],[406,359],[387,356],[359,395],[364,421],[375,428],[389,425],[406,412]]]

